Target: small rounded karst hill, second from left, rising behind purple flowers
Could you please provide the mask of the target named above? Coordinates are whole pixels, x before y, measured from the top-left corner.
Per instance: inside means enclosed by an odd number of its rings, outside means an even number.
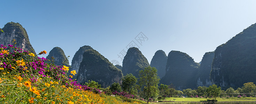
[[[58,66],[69,66],[69,61],[64,53],[64,51],[60,47],[54,47],[50,52],[46,59],[52,60],[54,58],[54,64]],[[64,63],[66,61],[66,63]]]

